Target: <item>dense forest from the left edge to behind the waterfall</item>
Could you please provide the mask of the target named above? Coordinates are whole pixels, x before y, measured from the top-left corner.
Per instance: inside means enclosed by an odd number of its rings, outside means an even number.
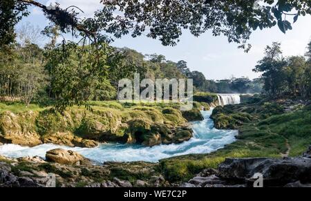
[[[59,30],[55,26],[40,32],[27,23],[17,33],[17,41],[0,51],[0,95],[5,100],[21,100],[27,105],[55,101],[56,106],[62,107],[68,101],[79,104],[86,100],[116,99],[118,81],[132,79],[134,73],[140,73],[140,79],[191,78],[197,91],[259,93],[262,89],[261,79],[207,80],[202,73],[191,71],[186,61],[173,62],[164,55],[142,55],[108,44],[103,46],[100,55],[102,71],[91,76],[92,68],[86,67],[92,65],[92,61],[83,55],[85,51],[93,51],[91,46],[84,49],[73,43],[57,44]],[[40,35],[50,38],[44,48],[36,41]],[[64,55],[70,59],[62,61]],[[79,88],[85,90],[79,91]],[[72,97],[77,97],[77,101],[71,101]]]

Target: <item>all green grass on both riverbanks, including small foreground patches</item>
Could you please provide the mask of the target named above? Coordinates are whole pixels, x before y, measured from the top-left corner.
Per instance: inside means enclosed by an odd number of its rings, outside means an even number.
[[[150,103],[118,103],[118,102],[90,102],[93,111],[73,106],[66,111],[66,121],[63,116],[51,115],[46,108],[30,105],[28,108],[20,103],[0,103],[0,111],[39,111],[37,128],[40,133],[55,132],[56,130],[75,131],[82,125],[84,115],[88,114],[85,127],[91,128],[92,122],[98,120],[102,124],[113,125],[118,119],[127,122],[140,119],[145,122],[171,122],[172,125],[185,122],[178,104],[150,104]],[[199,107],[202,103],[195,104]],[[41,115],[41,116],[40,116]],[[60,115],[60,116],[59,116]],[[110,116],[109,116],[110,115]],[[113,116],[111,116],[113,115]],[[69,118],[70,117],[70,118]],[[108,117],[108,118],[107,118]],[[290,148],[289,156],[301,155],[311,144],[311,106],[297,108],[296,111],[284,113],[284,106],[276,102],[256,102],[240,104],[214,109],[213,118],[216,125],[222,128],[238,128],[240,134],[237,141],[214,153],[200,155],[184,155],[161,160],[156,171],[162,173],[170,182],[182,182],[193,178],[194,175],[207,168],[216,168],[226,157],[281,157]],[[110,119],[110,122],[106,122]],[[55,130],[56,129],[56,130]],[[83,129],[82,129],[83,130]],[[124,133],[125,131],[122,131]],[[122,135],[122,133],[117,135]],[[288,144],[290,147],[288,147]],[[26,164],[13,168],[17,173],[28,170]],[[39,166],[51,173],[57,173],[63,178],[70,178],[69,172],[60,171],[51,164]],[[82,175],[94,177],[94,173],[82,170]],[[150,173],[127,171],[115,167],[111,169],[110,178],[134,182],[137,179],[147,180]],[[82,184],[78,184],[79,186]]]

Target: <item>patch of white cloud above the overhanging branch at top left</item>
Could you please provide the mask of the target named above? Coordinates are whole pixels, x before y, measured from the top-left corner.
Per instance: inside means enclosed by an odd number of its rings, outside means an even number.
[[[79,9],[75,9],[79,12],[80,17],[93,17],[96,10],[100,10],[103,6],[99,0],[49,0],[46,6],[50,3],[59,3],[61,8],[68,8],[69,6],[77,6],[77,8],[83,10],[84,13],[80,12]]]

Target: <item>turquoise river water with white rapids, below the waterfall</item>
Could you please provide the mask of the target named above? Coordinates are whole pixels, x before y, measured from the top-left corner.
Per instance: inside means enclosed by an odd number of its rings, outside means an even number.
[[[94,162],[158,162],[158,160],[177,155],[190,153],[211,153],[223,148],[225,144],[234,142],[238,131],[218,130],[214,128],[214,122],[209,119],[211,111],[202,111],[205,118],[200,122],[192,122],[194,137],[182,144],[159,145],[145,147],[133,144],[101,144],[96,148],[87,149],[79,147],[59,146],[55,144],[41,144],[32,148],[15,144],[0,146],[0,155],[7,157],[36,156],[45,157],[46,151],[56,148],[70,149],[88,157]]]

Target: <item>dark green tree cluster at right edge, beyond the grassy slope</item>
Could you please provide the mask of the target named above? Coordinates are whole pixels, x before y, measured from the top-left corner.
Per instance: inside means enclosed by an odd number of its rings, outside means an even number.
[[[265,48],[265,57],[254,71],[263,73],[264,89],[270,97],[302,97],[311,95],[311,42],[305,57],[283,57],[281,44]]]

